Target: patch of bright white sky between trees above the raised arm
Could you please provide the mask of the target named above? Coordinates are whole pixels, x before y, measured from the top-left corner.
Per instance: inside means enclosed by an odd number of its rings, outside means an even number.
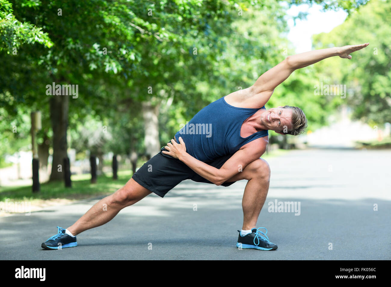
[[[311,36],[321,32],[330,32],[341,25],[348,14],[343,11],[321,11],[321,5],[299,5],[292,6],[287,12],[288,15],[296,16],[300,11],[309,12],[307,20],[296,20],[296,25],[292,19],[288,20],[290,31],[288,39],[296,47],[296,53],[303,53],[312,50]]]

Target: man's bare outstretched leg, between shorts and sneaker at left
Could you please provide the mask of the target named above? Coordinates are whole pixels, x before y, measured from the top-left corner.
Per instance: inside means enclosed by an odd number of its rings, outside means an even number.
[[[115,193],[95,203],[90,210],[67,229],[76,236],[84,230],[104,225],[113,219],[121,209],[142,200],[148,194],[151,194],[151,191],[131,178]]]

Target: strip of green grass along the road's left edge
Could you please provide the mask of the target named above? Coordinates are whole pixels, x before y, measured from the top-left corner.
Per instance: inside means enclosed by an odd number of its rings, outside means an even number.
[[[110,194],[122,187],[131,178],[132,172],[118,171],[118,180],[111,174],[97,177],[97,183],[91,184],[91,175],[72,175],[72,187],[66,188],[63,181],[41,184],[39,193],[32,193],[31,185],[18,187],[0,187],[0,201],[32,201],[51,198],[81,199],[93,195]]]

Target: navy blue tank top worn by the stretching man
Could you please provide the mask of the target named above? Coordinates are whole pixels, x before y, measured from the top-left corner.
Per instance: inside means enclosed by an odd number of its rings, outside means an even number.
[[[201,161],[233,154],[245,144],[268,135],[267,130],[261,130],[248,137],[240,136],[243,122],[258,110],[233,107],[222,97],[197,112],[175,134],[175,139],[179,143],[182,137],[186,152]]]

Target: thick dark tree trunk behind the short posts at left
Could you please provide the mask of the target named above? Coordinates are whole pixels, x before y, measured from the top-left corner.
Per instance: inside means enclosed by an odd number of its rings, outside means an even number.
[[[50,121],[53,129],[53,161],[50,180],[62,180],[64,175],[57,171],[58,165],[68,158],[66,153],[66,129],[68,127],[69,96],[54,95],[50,99]],[[61,169],[64,172],[64,169]]]

